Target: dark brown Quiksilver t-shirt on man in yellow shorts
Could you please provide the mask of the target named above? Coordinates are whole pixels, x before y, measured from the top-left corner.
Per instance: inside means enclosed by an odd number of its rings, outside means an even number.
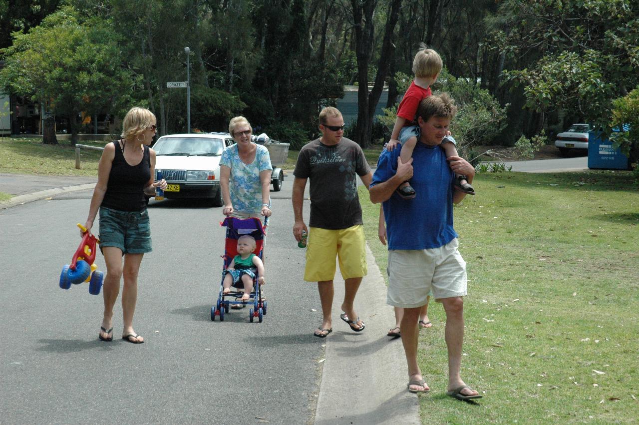
[[[319,139],[305,144],[295,165],[295,177],[311,179],[309,226],[346,229],[362,224],[362,207],[357,196],[357,174],[371,172],[360,146],[342,137],[334,146]]]

